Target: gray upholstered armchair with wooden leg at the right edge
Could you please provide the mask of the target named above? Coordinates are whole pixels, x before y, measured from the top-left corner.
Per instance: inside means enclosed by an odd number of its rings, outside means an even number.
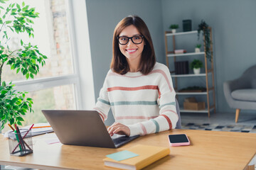
[[[241,109],[256,110],[256,65],[247,69],[238,79],[225,81],[223,89],[230,108],[236,108],[237,123]]]

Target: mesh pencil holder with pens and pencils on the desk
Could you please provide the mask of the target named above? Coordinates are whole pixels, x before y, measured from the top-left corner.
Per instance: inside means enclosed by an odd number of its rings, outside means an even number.
[[[9,132],[10,154],[18,157],[33,153],[31,130],[21,129],[20,132]]]

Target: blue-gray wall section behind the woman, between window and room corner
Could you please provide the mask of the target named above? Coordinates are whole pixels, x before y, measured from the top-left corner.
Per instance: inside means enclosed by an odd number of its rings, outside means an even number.
[[[87,0],[87,18],[90,33],[95,100],[99,96],[112,59],[112,36],[122,18],[136,14],[149,28],[158,62],[165,62],[161,1],[158,0]],[[160,33],[160,34],[159,34]],[[109,114],[112,115],[112,114]],[[112,116],[106,121],[113,122]]]

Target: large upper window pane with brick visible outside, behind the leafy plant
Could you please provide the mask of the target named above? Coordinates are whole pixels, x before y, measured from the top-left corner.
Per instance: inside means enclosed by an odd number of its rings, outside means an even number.
[[[11,2],[22,3],[20,0]],[[28,38],[26,33],[16,35],[11,30],[11,40],[9,47],[11,50],[20,48],[20,39],[23,42],[31,42],[32,45],[37,45],[43,55],[46,55],[46,65],[39,69],[35,79],[41,77],[56,77],[73,74],[73,58],[71,55],[70,37],[68,30],[68,19],[65,8],[65,0],[44,0],[34,1],[26,0],[26,5],[35,7],[39,14],[39,18],[35,18],[33,29],[34,38]],[[21,73],[16,74],[16,71],[11,70],[9,65],[4,65],[2,80],[17,81],[26,79]]]

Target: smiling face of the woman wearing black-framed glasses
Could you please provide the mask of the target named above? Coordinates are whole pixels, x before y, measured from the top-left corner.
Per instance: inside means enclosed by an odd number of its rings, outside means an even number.
[[[124,30],[122,30],[122,32],[119,34],[119,37],[125,36],[130,38],[134,35],[141,35],[141,33],[139,33],[135,26],[131,25],[127,26],[127,28],[124,28]],[[144,49],[144,40],[142,40],[141,44],[134,44],[132,40],[129,39],[129,42],[126,45],[119,44],[119,49],[122,54],[127,58],[127,62],[129,62],[129,64],[139,64],[142,57],[142,51]]]

